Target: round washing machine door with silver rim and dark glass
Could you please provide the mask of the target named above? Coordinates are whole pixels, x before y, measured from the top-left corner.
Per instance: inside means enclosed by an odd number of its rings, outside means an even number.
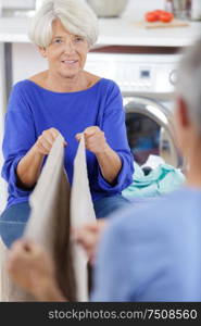
[[[142,97],[124,98],[124,108],[128,143],[135,161],[142,165],[150,154],[154,154],[165,163],[180,167],[171,110]]]

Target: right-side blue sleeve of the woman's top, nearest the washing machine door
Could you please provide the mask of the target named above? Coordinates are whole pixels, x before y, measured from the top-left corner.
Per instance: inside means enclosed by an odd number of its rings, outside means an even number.
[[[102,190],[116,193],[131,184],[134,174],[134,159],[128,146],[125,111],[120,88],[113,84],[104,109],[101,129],[104,131],[109,146],[118,154],[122,168],[114,185],[109,184],[102,176],[99,167],[98,183]]]

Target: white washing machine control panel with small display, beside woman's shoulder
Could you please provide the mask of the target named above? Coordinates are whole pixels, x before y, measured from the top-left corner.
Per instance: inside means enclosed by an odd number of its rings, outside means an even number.
[[[174,91],[179,54],[88,54],[86,70],[116,82],[123,92]]]

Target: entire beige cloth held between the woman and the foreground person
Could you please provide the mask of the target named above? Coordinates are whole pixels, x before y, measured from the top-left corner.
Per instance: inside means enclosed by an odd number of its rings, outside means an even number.
[[[87,176],[84,137],[79,141],[74,162],[71,203],[70,184],[63,160],[63,137],[59,136],[30,196],[32,213],[24,237],[42,244],[52,256],[63,294],[71,301],[87,301],[88,259],[77,243],[70,241],[70,224],[79,227],[86,222],[96,221]],[[5,251],[8,253],[8,249]],[[35,301],[35,298],[13,285],[5,272],[3,279],[3,301]]]

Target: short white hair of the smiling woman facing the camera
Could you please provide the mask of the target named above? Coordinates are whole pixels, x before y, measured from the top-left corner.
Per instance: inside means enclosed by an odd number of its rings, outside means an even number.
[[[60,20],[70,33],[85,37],[90,47],[98,39],[98,18],[84,0],[45,0],[32,18],[29,39],[38,47],[47,48],[55,20]]]

